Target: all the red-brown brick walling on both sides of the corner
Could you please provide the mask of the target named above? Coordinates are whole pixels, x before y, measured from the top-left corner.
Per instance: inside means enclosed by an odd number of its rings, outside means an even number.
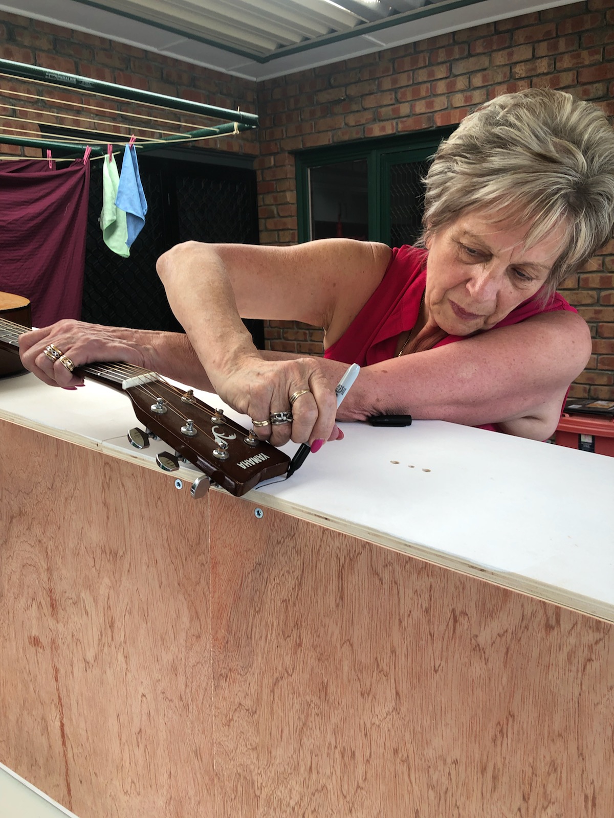
[[[458,123],[471,106],[496,94],[549,86],[595,101],[614,116],[614,0],[589,0],[463,29],[454,34],[251,83],[105,38],[27,17],[2,15],[0,57],[102,79],[210,105],[260,114],[259,132],[201,142],[253,155],[259,180],[260,239],[296,242],[296,180],[290,151]],[[2,78],[2,88],[19,86]],[[38,101],[35,119],[73,124],[79,97],[57,89],[54,105]],[[62,106],[62,102],[65,106]],[[0,94],[0,116],[14,101]],[[106,103],[122,121],[135,106]],[[181,118],[180,115],[178,115]],[[0,145],[8,155],[39,151]],[[614,242],[562,292],[589,322],[594,355],[572,388],[575,397],[614,399]],[[318,354],[322,330],[277,322],[272,348]]]

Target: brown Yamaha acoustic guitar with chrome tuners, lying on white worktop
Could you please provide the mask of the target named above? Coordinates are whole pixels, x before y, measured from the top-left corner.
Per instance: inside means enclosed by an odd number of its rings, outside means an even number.
[[[17,296],[10,298],[16,299]],[[27,299],[22,299],[26,301]],[[0,302],[2,303],[2,302]],[[21,305],[24,306],[24,305]],[[19,354],[19,336],[29,327],[0,316],[0,353]],[[19,357],[17,357],[19,361]],[[19,368],[23,368],[19,366]],[[16,369],[13,371],[17,371]],[[75,374],[97,380],[124,392],[134,414],[146,426],[131,429],[130,443],[147,447],[149,437],[158,437],[174,447],[174,454],[156,457],[161,469],[174,471],[183,459],[196,465],[211,483],[241,497],[258,483],[286,474],[290,458],[266,441],[260,441],[234,420],[194,396],[140,366],[124,363],[94,363],[79,366]],[[208,481],[196,479],[192,496],[200,497]]]

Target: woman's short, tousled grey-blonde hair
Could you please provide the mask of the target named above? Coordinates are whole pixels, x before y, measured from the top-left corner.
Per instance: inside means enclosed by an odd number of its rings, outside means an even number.
[[[548,296],[612,237],[614,130],[597,106],[565,92],[504,94],[441,142],[426,183],[423,238],[472,209],[531,223],[528,247],[566,222]]]

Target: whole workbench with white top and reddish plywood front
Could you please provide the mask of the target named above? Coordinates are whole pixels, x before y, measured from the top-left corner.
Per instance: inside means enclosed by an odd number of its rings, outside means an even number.
[[[133,425],[0,382],[0,762],[80,818],[611,818],[614,458],[352,424],[194,501]]]

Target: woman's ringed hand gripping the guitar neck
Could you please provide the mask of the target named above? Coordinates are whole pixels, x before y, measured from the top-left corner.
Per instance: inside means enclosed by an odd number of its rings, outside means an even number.
[[[50,345],[75,368],[103,361],[147,366],[146,348],[136,343],[133,335],[136,335],[135,330],[64,319],[21,335],[21,362],[46,384],[74,389],[83,384],[83,378],[73,375],[70,366],[66,366],[59,357],[52,360],[54,352],[48,349]],[[45,354],[45,350],[48,354]]]

